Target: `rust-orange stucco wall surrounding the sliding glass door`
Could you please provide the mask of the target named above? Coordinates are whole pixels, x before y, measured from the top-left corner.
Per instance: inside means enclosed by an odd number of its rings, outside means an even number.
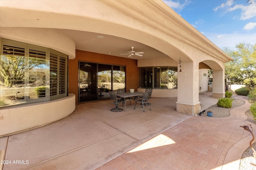
[[[76,94],[76,103],[78,103],[78,61],[126,66],[126,91],[139,87],[140,68],[137,66],[137,60],[76,50],[76,58],[69,60],[68,65],[68,92]]]

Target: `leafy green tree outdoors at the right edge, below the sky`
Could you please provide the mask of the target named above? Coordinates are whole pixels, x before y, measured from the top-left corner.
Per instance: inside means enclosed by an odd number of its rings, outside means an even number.
[[[236,50],[224,48],[223,51],[234,59],[225,64],[231,84],[244,84],[244,80],[256,78],[256,44],[239,43]]]

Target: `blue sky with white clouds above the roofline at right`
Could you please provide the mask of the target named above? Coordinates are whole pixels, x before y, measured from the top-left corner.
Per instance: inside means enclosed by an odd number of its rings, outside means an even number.
[[[163,0],[220,49],[256,43],[256,2],[246,0]]]

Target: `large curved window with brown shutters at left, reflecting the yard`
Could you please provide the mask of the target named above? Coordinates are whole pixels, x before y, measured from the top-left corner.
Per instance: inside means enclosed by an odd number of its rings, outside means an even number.
[[[68,96],[68,55],[50,48],[0,39],[0,107]]]

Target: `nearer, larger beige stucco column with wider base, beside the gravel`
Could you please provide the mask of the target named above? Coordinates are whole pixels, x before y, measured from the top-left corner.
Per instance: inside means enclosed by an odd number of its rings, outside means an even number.
[[[176,110],[194,115],[200,112],[198,94],[199,67],[197,62],[182,62],[178,65],[178,100]]]

